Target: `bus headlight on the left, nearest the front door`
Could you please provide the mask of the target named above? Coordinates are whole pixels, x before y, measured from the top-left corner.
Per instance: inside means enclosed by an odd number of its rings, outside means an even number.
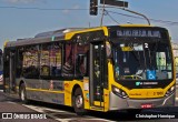
[[[120,96],[120,98],[122,98],[122,99],[128,98],[127,93],[126,93],[123,90],[121,90],[121,89],[119,89],[119,88],[116,88],[116,87],[113,87],[113,85],[112,85],[112,92],[113,92],[116,95],[118,95],[118,96]]]

